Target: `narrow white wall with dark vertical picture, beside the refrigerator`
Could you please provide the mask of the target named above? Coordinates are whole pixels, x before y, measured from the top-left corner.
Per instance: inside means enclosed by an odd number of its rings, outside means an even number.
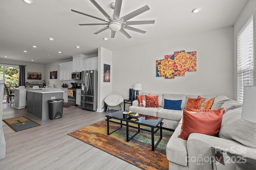
[[[104,64],[110,65],[110,82],[103,82]],[[113,84],[113,65],[112,65],[112,51],[98,48],[98,101],[97,111],[101,112],[104,107],[104,98],[112,94]]]

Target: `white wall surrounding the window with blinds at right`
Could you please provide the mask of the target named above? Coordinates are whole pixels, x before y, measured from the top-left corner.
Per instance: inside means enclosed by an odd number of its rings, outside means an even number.
[[[244,24],[248,21],[250,16],[253,14],[253,21],[254,21],[254,33],[256,31],[255,28],[255,10],[256,10],[256,0],[249,0],[244,10],[242,11],[239,18],[236,20],[234,24],[234,99],[237,100],[237,35],[239,31],[242,29]],[[254,34],[254,39],[256,39]],[[255,44],[254,44],[255,47]],[[254,48],[255,54],[255,48]]]

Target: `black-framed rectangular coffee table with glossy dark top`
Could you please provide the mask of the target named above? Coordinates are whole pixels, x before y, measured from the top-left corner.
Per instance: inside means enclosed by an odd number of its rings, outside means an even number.
[[[114,133],[118,129],[122,128],[123,125],[124,125],[124,126],[126,126],[126,141],[129,142],[138,133],[140,133],[140,130],[148,131],[148,132],[151,133],[152,150],[154,151],[156,149],[157,145],[160,143],[160,141],[162,139],[162,125],[164,124],[162,122],[163,118],[139,114],[139,116],[136,119],[136,121],[132,121],[131,117],[128,117],[127,119],[124,119],[123,118],[123,112],[124,111],[119,110],[119,111],[116,111],[114,113],[109,113],[109,114],[106,115],[106,117],[107,117],[106,121],[107,121],[108,135],[110,135],[111,133]],[[120,120],[120,122],[112,121],[111,119]],[[123,123],[123,121],[125,121],[126,123]],[[115,129],[115,130],[109,132],[109,122],[119,124],[120,127],[118,129]],[[138,125],[138,127],[137,126],[133,126],[131,124],[129,125],[129,123],[134,123],[134,124]],[[144,128],[140,127],[140,125],[143,125],[143,126],[146,126],[146,127],[150,127],[151,130],[144,129]],[[134,135],[132,135],[132,137],[129,137],[129,127],[132,127],[134,129],[138,129],[138,131]],[[158,132],[159,129],[160,129],[160,139],[158,139],[156,145],[154,145],[154,134],[156,132]]]

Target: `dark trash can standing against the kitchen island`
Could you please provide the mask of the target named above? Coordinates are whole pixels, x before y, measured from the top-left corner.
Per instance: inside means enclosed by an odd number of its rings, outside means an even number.
[[[51,120],[62,118],[64,99],[48,100],[49,118]]]

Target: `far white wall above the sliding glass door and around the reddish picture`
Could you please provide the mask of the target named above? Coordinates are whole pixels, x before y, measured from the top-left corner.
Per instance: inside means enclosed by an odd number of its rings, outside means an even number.
[[[26,65],[26,67],[25,67],[25,74],[26,74],[25,82],[43,82],[43,80],[45,78],[44,65],[43,64],[23,63],[23,62],[8,61],[8,60],[3,60],[3,59],[0,59],[0,63],[10,64],[10,65],[15,64],[15,65],[17,65],[17,67],[19,67],[18,65]],[[41,80],[28,80],[27,79],[27,72],[41,72],[42,73]]]

